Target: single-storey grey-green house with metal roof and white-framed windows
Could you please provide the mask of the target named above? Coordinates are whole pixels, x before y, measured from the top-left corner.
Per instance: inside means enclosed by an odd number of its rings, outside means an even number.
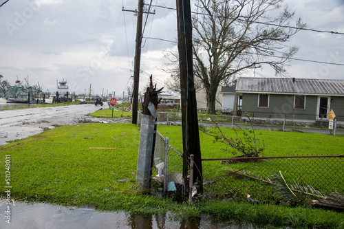
[[[344,121],[344,80],[310,78],[237,79],[237,102],[242,98],[242,116],[292,120],[328,120],[333,109]]]

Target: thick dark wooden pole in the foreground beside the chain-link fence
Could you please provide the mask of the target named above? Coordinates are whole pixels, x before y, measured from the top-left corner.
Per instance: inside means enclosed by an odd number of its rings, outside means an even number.
[[[198,133],[196,90],[193,78],[192,24],[190,0],[177,0],[180,94],[182,98],[183,179],[184,195],[190,155],[195,155],[193,183],[203,193],[200,135]]]

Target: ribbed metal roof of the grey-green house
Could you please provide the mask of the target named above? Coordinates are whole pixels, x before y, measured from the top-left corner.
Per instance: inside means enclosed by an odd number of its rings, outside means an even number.
[[[344,80],[240,77],[237,79],[236,91],[247,93],[344,96]]]

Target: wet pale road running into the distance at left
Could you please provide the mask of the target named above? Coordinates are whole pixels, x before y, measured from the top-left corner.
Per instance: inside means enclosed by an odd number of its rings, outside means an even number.
[[[101,108],[90,104],[0,111],[0,145],[41,133],[46,128],[76,124],[78,120],[85,119],[87,113]]]

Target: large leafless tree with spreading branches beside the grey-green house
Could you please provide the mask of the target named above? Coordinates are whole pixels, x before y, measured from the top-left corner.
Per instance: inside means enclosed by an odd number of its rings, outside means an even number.
[[[207,111],[215,113],[220,83],[230,81],[246,69],[270,65],[286,76],[288,58],[298,47],[287,45],[290,37],[304,28],[283,0],[195,0],[193,55],[195,76],[206,90]],[[279,14],[275,17],[270,15]],[[269,58],[277,55],[282,58]],[[231,79],[230,79],[231,78]]]

